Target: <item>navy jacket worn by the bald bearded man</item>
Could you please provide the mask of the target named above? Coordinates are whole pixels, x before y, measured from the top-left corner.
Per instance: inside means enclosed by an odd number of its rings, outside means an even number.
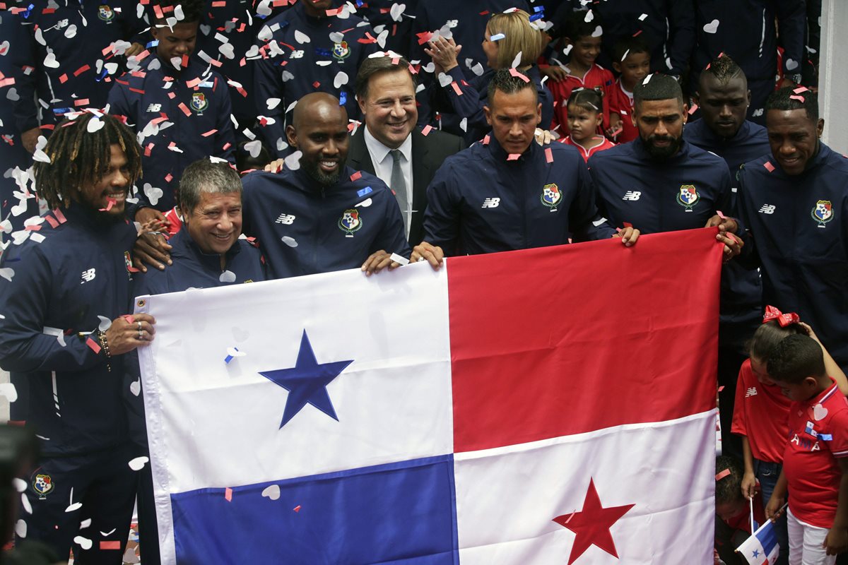
[[[381,249],[410,256],[392,191],[372,174],[350,180],[355,172],[326,187],[303,169],[242,179],[244,233],[259,240],[269,279],[358,269]]]

